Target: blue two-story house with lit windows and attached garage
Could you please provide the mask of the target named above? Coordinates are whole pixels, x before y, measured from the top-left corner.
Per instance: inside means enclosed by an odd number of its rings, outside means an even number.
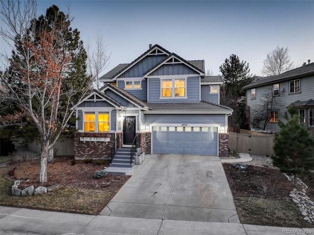
[[[76,157],[107,157],[130,148],[146,154],[226,156],[229,107],[219,104],[220,77],[205,77],[204,60],[187,61],[155,45],[100,78],[77,108]]]

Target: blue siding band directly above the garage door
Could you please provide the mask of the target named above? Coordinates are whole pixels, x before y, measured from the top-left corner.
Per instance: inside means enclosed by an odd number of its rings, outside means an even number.
[[[225,114],[145,114],[145,124],[217,124],[226,126]]]

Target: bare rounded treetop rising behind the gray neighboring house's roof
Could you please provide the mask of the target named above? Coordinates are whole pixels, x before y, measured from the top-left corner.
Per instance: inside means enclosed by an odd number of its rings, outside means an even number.
[[[262,74],[274,76],[285,73],[294,68],[293,61],[290,59],[288,47],[277,46],[272,52],[266,55],[263,61]]]

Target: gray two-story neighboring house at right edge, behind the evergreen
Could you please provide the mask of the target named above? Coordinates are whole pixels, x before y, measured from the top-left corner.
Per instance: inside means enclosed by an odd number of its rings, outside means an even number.
[[[286,121],[284,114],[290,104],[298,107],[300,122],[314,128],[314,63],[277,76],[256,77],[244,89],[251,129],[261,130],[268,116],[265,130],[279,131],[278,121]]]

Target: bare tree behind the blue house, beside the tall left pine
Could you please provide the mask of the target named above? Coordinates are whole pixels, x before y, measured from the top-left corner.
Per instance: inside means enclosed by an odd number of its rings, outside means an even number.
[[[100,89],[99,82],[100,74],[108,67],[111,52],[107,52],[107,45],[105,45],[104,37],[98,33],[95,40],[95,48],[91,49],[90,42],[87,42],[87,64],[89,74],[93,80],[93,87]]]

